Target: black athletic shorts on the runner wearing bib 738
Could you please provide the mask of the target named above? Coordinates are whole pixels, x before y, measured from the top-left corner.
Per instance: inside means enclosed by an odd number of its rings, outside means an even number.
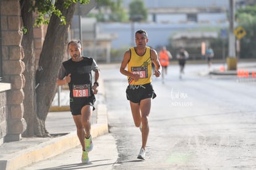
[[[95,110],[94,108],[95,101],[96,101],[95,95],[92,95],[88,98],[75,98],[75,99],[70,98],[70,111],[74,116],[79,115],[81,114],[81,109],[85,105],[93,106],[93,110]]]

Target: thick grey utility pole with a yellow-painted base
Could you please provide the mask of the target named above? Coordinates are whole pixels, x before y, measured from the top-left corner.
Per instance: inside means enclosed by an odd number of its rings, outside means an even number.
[[[236,38],[234,35],[234,22],[235,22],[235,4],[236,0],[229,0],[229,36],[228,36],[228,70],[236,70],[237,57],[236,57]]]

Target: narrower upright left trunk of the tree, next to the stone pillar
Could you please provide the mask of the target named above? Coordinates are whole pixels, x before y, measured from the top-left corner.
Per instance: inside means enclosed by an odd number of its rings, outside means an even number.
[[[25,32],[22,37],[22,47],[24,51],[24,59],[26,69],[24,71],[25,87],[23,100],[24,105],[24,119],[27,122],[27,129],[24,132],[24,136],[34,134],[34,128],[39,124],[39,120],[36,117],[36,93],[35,93],[35,52],[33,42],[33,14],[29,7],[30,1],[20,1],[20,9],[23,20],[23,27]],[[38,134],[38,133],[36,133]]]

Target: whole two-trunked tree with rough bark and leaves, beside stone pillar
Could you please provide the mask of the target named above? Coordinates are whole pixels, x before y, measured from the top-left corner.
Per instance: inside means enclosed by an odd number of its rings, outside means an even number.
[[[22,46],[26,64],[24,94],[24,119],[27,130],[23,137],[48,136],[45,121],[49,107],[55,96],[59,67],[64,59],[67,34],[74,15],[75,4],[87,4],[90,0],[20,0],[21,15],[24,25]],[[34,24],[33,12],[38,14]],[[45,15],[48,14],[48,18]],[[49,23],[49,24],[48,24]],[[35,69],[33,25],[48,24],[48,29],[40,54],[38,69]]]

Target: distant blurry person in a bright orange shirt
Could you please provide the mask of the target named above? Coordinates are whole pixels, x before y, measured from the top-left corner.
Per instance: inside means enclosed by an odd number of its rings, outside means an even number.
[[[171,53],[166,49],[166,46],[163,46],[160,53],[159,53],[159,60],[160,64],[163,68],[162,80],[164,82],[164,74],[167,75],[167,69],[169,66],[169,59],[172,59],[173,56]]]

